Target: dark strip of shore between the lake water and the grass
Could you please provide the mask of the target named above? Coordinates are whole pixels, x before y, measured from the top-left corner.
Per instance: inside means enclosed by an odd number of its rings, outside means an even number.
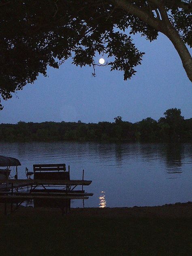
[[[0,215],[4,214],[4,204],[0,204]],[[33,208],[21,206],[11,215],[62,215],[59,208]],[[68,217],[99,217],[99,218],[192,218],[192,202],[165,204],[158,206],[134,207],[87,207],[71,208],[64,214]]]

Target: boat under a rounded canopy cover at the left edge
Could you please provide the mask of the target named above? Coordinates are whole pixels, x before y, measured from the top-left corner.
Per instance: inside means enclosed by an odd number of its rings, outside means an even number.
[[[21,163],[18,159],[9,156],[0,156],[0,167],[6,167],[0,169],[0,179],[8,179],[10,175],[10,166],[16,166],[16,176],[17,176],[17,166]],[[16,177],[17,178],[17,177]]]

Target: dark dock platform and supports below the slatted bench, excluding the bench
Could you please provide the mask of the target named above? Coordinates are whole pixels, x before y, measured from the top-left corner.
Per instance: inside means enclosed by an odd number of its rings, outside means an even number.
[[[16,210],[19,205],[28,200],[41,200],[41,202],[43,202],[43,200],[45,200],[45,202],[51,202],[51,200],[55,201],[57,205],[60,205],[62,213],[64,213],[63,205],[65,205],[66,212],[68,212],[68,210],[70,210],[70,200],[81,199],[84,202],[89,196],[93,196],[93,193],[85,193],[83,190],[83,186],[88,186],[92,183],[92,181],[87,180],[0,179],[0,183],[0,202],[4,202],[5,214],[7,214],[7,203],[11,203],[12,212],[14,203],[17,203],[15,207]],[[50,189],[50,187],[55,186],[62,186],[65,189]],[[77,186],[81,186],[82,190],[73,190]],[[43,189],[35,189],[39,187]],[[27,190],[24,192],[19,191],[19,189],[23,188]]]

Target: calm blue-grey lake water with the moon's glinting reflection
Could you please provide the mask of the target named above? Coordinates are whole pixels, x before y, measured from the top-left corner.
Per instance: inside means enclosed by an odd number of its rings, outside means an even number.
[[[1,143],[18,158],[20,179],[33,164],[66,163],[71,179],[92,180],[85,207],[132,207],[192,201],[192,144]],[[12,170],[14,175],[15,169]],[[74,200],[72,207],[82,207]]]

